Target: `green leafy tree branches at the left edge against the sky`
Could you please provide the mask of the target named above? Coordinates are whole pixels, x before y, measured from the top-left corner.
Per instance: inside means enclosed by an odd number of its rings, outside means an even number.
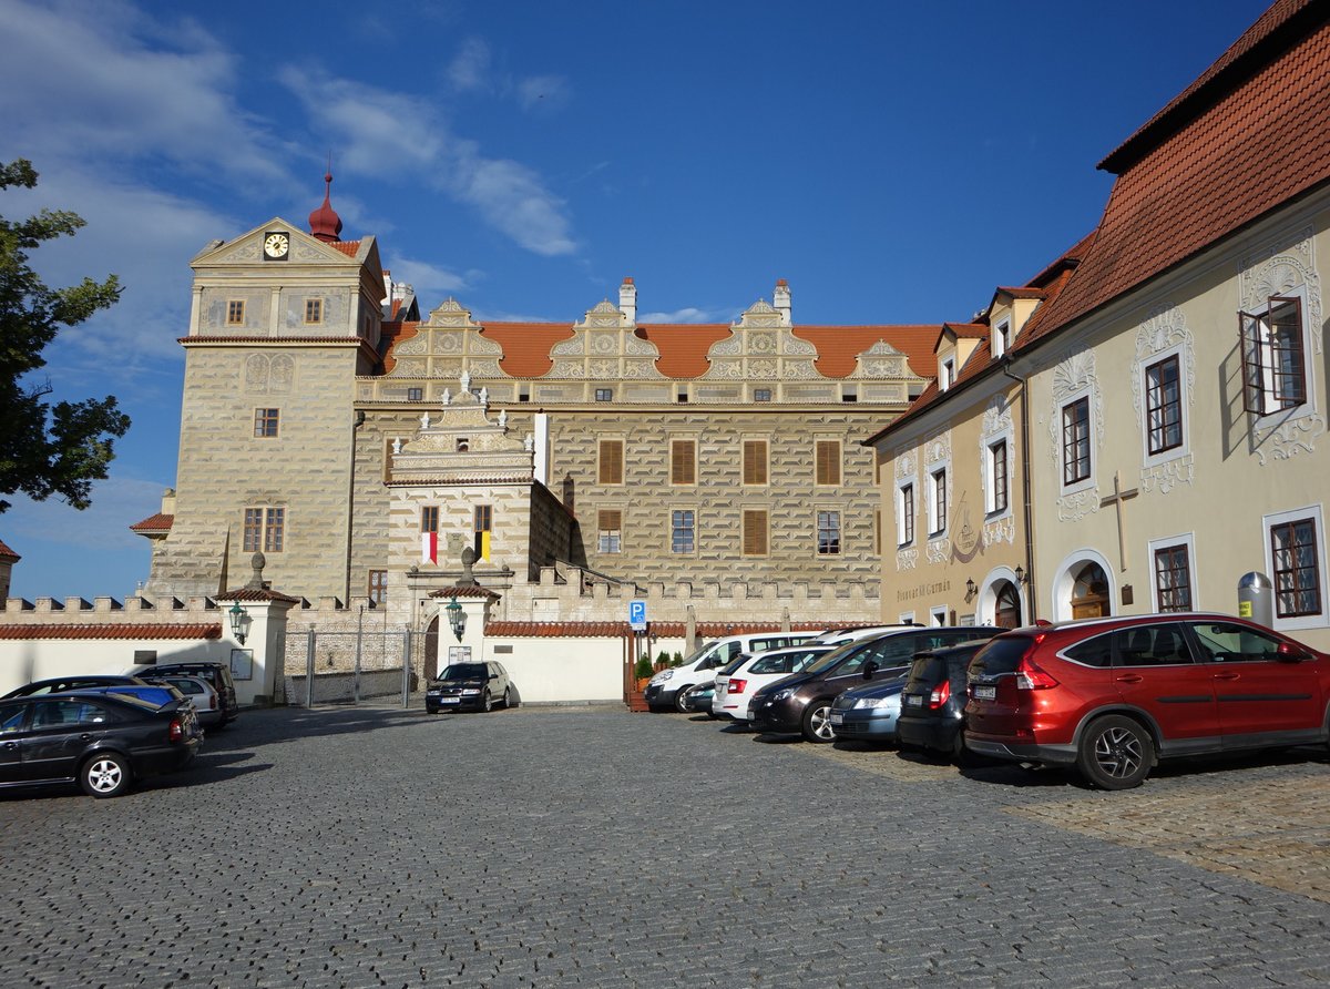
[[[19,158],[0,164],[0,190],[32,189],[37,173]],[[112,438],[125,435],[129,417],[116,398],[45,401],[51,379],[41,351],[63,326],[76,326],[120,298],[120,281],[84,278],[51,289],[28,266],[28,252],[44,241],[74,234],[84,221],[66,210],[41,210],[21,222],[0,216],[0,495],[21,491],[36,500],[60,495],[76,508],[92,502],[92,482],[106,477]],[[9,507],[0,496],[0,512]]]

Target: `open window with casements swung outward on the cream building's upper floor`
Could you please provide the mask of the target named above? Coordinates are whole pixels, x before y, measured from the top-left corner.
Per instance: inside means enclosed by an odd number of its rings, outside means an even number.
[[[1265,313],[1238,313],[1242,407],[1256,415],[1307,401],[1302,299],[1271,296]]]

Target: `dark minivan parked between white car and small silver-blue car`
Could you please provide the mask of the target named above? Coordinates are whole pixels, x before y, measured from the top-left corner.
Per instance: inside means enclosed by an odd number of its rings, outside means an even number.
[[[749,707],[753,727],[770,735],[802,733],[809,741],[833,741],[831,703],[841,691],[867,680],[899,679],[915,652],[951,646],[974,635],[972,627],[904,626],[846,643],[803,672],[759,690]]]

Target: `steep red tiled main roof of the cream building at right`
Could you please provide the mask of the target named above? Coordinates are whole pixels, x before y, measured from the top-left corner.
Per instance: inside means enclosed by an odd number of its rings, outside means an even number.
[[[1330,4],[1279,0],[1119,169],[1093,245],[1029,341],[1053,333],[1330,180]]]

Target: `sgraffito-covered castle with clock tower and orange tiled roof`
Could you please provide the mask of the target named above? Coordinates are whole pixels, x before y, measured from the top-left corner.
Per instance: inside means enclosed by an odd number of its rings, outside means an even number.
[[[326,180],[331,188],[331,176]],[[265,579],[415,627],[460,554],[507,620],[878,620],[882,519],[862,441],[935,373],[931,326],[422,315],[374,237],[274,217],[192,261],[180,467],[144,595]]]

